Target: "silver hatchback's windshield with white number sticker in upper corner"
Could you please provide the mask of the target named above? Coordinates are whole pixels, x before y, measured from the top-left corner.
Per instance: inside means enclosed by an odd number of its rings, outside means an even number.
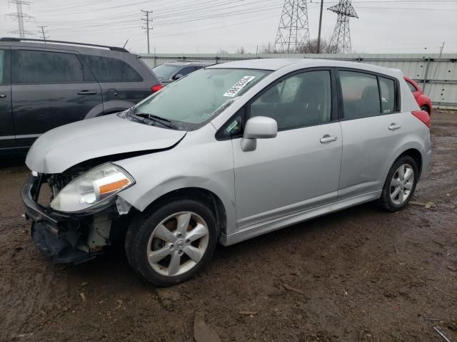
[[[134,113],[156,115],[194,130],[219,115],[271,71],[209,68],[189,73],[136,105]]]

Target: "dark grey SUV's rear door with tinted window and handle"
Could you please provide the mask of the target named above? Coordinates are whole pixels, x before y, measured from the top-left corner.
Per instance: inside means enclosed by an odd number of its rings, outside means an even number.
[[[12,48],[12,110],[16,142],[28,147],[42,133],[101,104],[99,84],[75,53]]]

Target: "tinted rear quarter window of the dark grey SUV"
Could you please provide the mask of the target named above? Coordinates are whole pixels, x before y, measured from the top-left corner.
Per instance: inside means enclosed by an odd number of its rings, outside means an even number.
[[[134,68],[117,58],[80,55],[99,82],[141,82],[143,78]]]

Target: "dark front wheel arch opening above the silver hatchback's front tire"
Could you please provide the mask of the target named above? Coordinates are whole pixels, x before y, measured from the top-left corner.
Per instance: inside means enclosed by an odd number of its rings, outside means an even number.
[[[216,224],[218,225],[219,234],[226,234],[227,231],[227,213],[224,203],[214,192],[204,189],[203,187],[183,187],[181,189],[171,190],[154,199],[144,210],[151,207],[164,204],[172,199],[194,199],[204,202],[214,213]]]

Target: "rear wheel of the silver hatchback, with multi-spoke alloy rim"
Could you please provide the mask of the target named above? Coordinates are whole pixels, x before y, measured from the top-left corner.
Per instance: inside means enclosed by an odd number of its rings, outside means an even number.
[[[416,161],[408,155],[398,158],[388,172],[379,199],[384,209],[391,212],[398,212],[398,210],[403,209],[413,197],[417,181]]]

